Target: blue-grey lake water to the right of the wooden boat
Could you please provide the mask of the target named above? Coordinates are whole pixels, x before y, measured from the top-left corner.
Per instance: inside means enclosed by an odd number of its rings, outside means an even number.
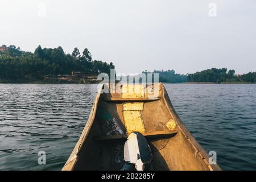
[[[217,152],[222,169],[256,170],[255,84],[165,86],[180,118],[205,150]]]

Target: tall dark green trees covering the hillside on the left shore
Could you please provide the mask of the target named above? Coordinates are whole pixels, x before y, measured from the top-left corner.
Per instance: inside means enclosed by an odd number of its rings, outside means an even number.
[[[110,73],[113,63],[92,60],[87,48],[80,55],[75,48],[72,55],[66,54],[61,47],[43,48],[38,46],[34,53],[21,51],[11,45],[0,47],[0,81],[43,80],[46,77],[71,75],[72,71],[97,75]]]

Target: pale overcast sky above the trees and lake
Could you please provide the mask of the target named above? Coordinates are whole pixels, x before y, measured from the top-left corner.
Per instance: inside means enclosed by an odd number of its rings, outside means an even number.
[[[0,0],[0,17],[1,45],[86,47],[117,73],[256,71],[255,0]]]

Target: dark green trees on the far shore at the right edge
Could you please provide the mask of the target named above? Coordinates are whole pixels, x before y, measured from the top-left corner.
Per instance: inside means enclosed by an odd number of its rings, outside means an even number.
[[[255,83],[256,72],[235,75],[234,69],[212,68],[188,75],[188,82],[214,82],[214,83]]]

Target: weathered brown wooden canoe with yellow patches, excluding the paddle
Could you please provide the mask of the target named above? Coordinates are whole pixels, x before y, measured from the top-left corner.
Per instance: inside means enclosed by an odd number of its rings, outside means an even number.
[[[131,93],[129,85],[117,85],[118,93],[101,93],[113,85],[98,92],[63,170],[122,170],[125,142],[134,131],[150,146],[150,170],[221,170],[209,164],[207,152],[181,122],[162,83],[133,85]],[[135,93],[136,87],[142,90]]]

